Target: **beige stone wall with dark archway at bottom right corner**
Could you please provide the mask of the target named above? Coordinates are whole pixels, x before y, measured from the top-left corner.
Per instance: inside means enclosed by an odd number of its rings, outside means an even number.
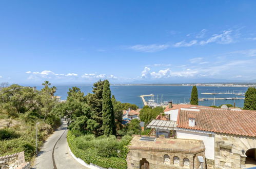
[[[215,168],[245,168],[246,155],[256,148],[256,138],[215,133]]]

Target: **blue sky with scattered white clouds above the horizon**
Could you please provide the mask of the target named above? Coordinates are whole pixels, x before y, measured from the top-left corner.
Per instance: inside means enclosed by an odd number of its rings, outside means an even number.
[[[1,1],[0,82],[255,80],[255,9],[256,1]]]

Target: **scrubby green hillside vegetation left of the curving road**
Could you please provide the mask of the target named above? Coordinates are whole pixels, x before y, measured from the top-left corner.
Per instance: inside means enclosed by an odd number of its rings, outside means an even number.
[[[53,98],[56,88],[45,84],[41,91],[15,84],[0,91],[0,156],[25,151],[30,160],[36,152],[35,123],[40,122],[39,146],[60,125],[60,118],[52,112],[59,104]]]

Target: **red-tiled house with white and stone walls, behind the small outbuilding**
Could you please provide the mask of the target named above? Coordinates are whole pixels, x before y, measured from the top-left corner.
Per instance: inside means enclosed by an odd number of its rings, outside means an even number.
[[[207,168],[256,166],[256,111],[180,108],[178,139],[202,140]]]

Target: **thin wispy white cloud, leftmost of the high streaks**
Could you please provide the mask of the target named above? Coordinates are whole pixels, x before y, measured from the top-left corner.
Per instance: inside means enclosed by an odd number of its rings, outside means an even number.
[[[128,49],[132,49],[137,52],[157,52],[162,51],[169,48],[169,45],[134,45],[129,47]]]

